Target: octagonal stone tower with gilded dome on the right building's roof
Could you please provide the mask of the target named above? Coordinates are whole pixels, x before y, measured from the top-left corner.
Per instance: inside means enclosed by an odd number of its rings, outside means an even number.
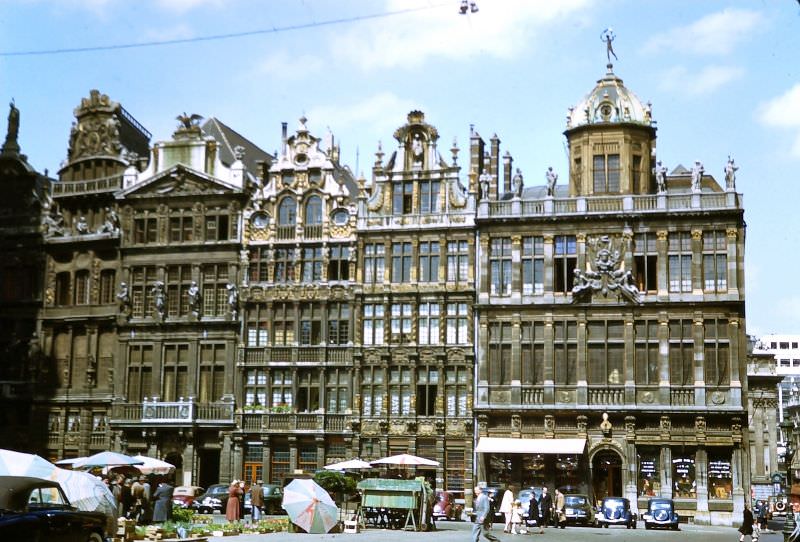
[[[614,74],[609,62],[597,85],[567,115],[571,196],[652,194],[656,127],[650,103]]]

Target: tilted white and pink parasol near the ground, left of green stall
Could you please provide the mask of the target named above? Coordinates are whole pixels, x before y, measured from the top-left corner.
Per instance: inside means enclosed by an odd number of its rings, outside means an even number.
[[[314,480],[295,479],[283,488],[283,509],[307,533],[325,534],[339,522],[339,509]]]

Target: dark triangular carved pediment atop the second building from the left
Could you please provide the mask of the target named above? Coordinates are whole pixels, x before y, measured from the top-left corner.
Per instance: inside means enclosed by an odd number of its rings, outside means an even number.
[[[225,183],[185,166],[174,166],[137,183],[123,191],[125,198],[175,197],[210,194],[232,194],[239,190]]]

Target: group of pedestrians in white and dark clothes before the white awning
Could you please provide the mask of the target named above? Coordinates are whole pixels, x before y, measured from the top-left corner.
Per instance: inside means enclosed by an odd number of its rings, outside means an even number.
[[[475,487],[475,497],[475,524],[472,527],[472,540],[480,542],[480,537],[483,536],[490,542],[497,542],[498,538],[489,532],[494,519],[489,493],[485,488],[477,486]],[[509,534],[526,534],[528,524],[539,527],[539,534],[544,534],[544,529],[548,525],[558,527],[563,526],[563,523],[566,522],[564,494],[556,489],[555,499],[553,499],[546,487],[542,488],[541,496],[538,499],[535,494],[532,494],[527,518],[523,517],[522,503],[514,497],[514,491],[511,488],[506,489],[503,493],[498,511],[505,517],[503,532]]]

